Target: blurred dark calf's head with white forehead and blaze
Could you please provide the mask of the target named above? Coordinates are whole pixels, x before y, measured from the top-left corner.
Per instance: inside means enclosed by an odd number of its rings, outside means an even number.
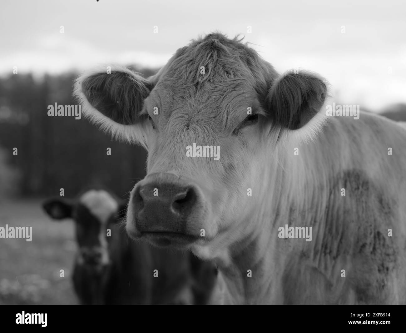
[[[117,222],[125,215],[124,203],[119,204],[104,190],[90,190],[78,200],[46,200],[43,209],[54,220],[74,220],[79,247],[78,264],[98,270],[110,263],[112,233],[108,234],[107,229],[118,228]]]

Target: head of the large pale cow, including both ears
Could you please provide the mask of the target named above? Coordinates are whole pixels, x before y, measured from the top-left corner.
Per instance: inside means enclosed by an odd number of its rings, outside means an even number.
[[[326,85],[308,73],[279,77],[254,50],[214,34],[179,49],[148,80],[122,68],[94,71],[78,79],[75,93],[93,122],[148,150],[128,233],[158,246],[202,248],[254,227],[246,223],[257,209],[249,192],[266,195],[271,138],[309,122]]]

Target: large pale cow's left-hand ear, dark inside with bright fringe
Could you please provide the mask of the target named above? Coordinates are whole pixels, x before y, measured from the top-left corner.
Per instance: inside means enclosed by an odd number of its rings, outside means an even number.
[[[125,67],[100,67],[82,74],[73,94],[83,115],[113,137],[142,141],[136,125],[151,83]]]

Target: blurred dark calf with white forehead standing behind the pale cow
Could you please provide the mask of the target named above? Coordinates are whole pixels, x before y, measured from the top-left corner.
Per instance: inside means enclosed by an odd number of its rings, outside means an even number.
[[[75,221],[78,252],[72,278],[80,303],[194,304],[188,255],[131,241],[120,222],[125,206],[105,189],[43,203],[52,219]]]

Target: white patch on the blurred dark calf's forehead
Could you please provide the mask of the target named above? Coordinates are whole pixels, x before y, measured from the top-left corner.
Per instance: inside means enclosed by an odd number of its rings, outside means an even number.
[[[119,207],[117,200],[104,190],[90,190],[84,193],[79,201],[102,223],[106,223]]]

